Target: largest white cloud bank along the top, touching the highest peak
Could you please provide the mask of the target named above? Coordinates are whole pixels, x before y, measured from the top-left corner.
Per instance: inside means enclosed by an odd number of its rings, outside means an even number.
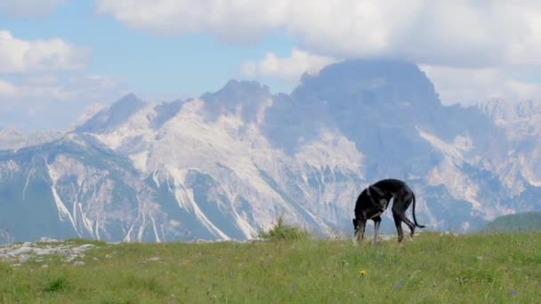
[[[541,64],[541,3],[467,0],[96,0],[133,28],[208,31],[246,40],[285,28],[303,49],[335,58],[384,56],[424,64]]]

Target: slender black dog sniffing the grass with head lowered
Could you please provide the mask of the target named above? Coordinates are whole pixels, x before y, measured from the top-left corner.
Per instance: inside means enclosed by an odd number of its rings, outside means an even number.
[[[387,209],[392,198],[392,217],[399,236],[399,243],[402,242],[404,234],[402,233],[401,223],[408,225],[410,236],[413,237],[416,227],[424,228],[416,220],[416,196],[402,180],[379,180],[373,185],[368,186],[359,194],[355,203],[355,218],[353,219],[353,228],[355,229],[355,239],[359,243],[364,238],[367,220],[374,220],[374,242],[377,239],[377,231],[382,221],[381,214]],[[412,223],[406,217],[406,211],[409,204],[413,201],[413,220]]]

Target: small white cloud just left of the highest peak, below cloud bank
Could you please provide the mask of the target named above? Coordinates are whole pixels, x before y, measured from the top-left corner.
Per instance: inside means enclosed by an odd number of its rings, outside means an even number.
[[[309,52],[294,48],[291,55],[280,58],[273,52],[269,52],[259,62],[247,61],[242,66],[246,76],[272,76],[285,80],[297,81],[303,73],[317,74],[319,69],[335,62],[330,57],[318,56]]]

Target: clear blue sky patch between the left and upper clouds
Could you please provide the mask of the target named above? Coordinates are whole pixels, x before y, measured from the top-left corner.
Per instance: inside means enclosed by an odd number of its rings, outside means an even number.
[[[287,55],[296,44],[280,30],[271,30],[249,44],[223,43],[208,33],[160,35],[126,28],[93,9],[92,1],[69,1],[46,15],[3,16],[0,28],[23,40],[61,37],[90,51],[87,73],[112,76],[129,89],[166,99],[218,90],[230,78],[245,77],[241,73],[244,61],[258,60],[269,50]],[[268,80],[278,92],[293,87]]]

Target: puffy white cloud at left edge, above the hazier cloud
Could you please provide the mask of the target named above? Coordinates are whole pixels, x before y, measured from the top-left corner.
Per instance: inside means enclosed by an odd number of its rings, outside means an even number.
[[[26,41],[0,30],[0,73],[85,68],[88,52],[59,38]]]

